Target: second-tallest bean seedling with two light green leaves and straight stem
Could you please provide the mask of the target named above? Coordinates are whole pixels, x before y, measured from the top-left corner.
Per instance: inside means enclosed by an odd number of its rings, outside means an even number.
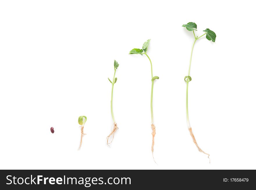
[[[153,88],[154,88],[154,80],[159,79],[158,76],[153,76],[153,69],[152,69],[152,62],[149,58],[149,56],[147,55],[147,49],[149,46],[150,40],[147,40],[146,42],[144,42],[142,49],[132,49],[130,51],[129,54],[140,54],[140,55],[146,55],[147,58],[150,61],[150,65],[151,65],[151,98],[150,98],[150,109],[151,109],[151,129],[152,129],[152,146],[151,146],[151,151],[152,151],[152,155],[153,155],[153,151],[154,151],[154,137],[156,135],[156,127],[154,125],[154,117],[153,117]],[[154,158],[154,156],[153,156]]]

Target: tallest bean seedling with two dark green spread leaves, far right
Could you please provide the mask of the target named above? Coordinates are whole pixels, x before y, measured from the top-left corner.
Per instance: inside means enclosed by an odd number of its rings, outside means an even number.
[[[191,50],[191,55],[190,55],[190,61],[189,61],[189,74],[190,74],[190,66],[191,66],[191,59],[192,59],[192,53],[193,53],[193,48],[194,48],[194,45],[195,45],[195,42],[202,36],[206,35],[206,39],[207,40],[210,40],[210,41],[213,41],[215,42],[215,39],[216,39],[216,34],[211,31],[209,28],[205,29],[203,32],[205,32],[203,35],[201,36],[195,36],[195,32],[194,31],[197,31],[197,25],[194,23],[194,22],[189,22],[188,24],[183,24],[182,25],[183,27],[186,27],[186,29],[188,31],[193,31],[193,34],[194,34],[194,43],[193,43],[193,46],[192,46],[192,50]],[[186,88],[186,116],[187,116],[187,126],[189,128],[189,132],[190,132],[190,135],[193,139],[193,142],[195,143],[195,145],[197,146],[198,150],[204,154],[207,154],[205,153],[197,144],[196,140],[195,140],[195,136],[192,132],[192,128],[190,126],[190,122],[189,122],[189,110],[188,110],[188,89],[189,89],[189,82],[192,80],[191,79],[191,76],[189,76],[189,74],[187,76],[185,76],[184,80],[186,82],[186,85],[187,85],[187,88]],[[208,155],[208,158],[209,158],[209,154]],[[209,158],[210,159],[210,158]]]

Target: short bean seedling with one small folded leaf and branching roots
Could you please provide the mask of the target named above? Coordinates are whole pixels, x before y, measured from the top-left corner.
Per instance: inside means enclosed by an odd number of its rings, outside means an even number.
[[[119,64],[116,60],[114,60],[114,70],[116,71],[116,69],[118,68]],[[114,89],[114,84],[116,83],[117,81],[117,78],[115,78],[115,71],[114,71],[114,76],[113,76],[113,81],[111,81],[109,78],[109,82],[112,84],[112,90],[111,90],[111,115],[112,115],[112,119],[113,119],[113,122],[114,124],[112,125],[113,126],[113,129],[111,129],[111,133],[109,134],[109,136],[107,136],[107,145],[109,145],[113,139],[114,139],[114,135],[115,135],[115,132],[116,130],[118,130],[118,127],[117,127],[117,124],[115,123],[115,117],[114,117],[114,113],[113,113],[113,89]],[[109,143],[109,137],[111,137],[111,135],[113,135],[112,137],[112,140],[111,142]]]

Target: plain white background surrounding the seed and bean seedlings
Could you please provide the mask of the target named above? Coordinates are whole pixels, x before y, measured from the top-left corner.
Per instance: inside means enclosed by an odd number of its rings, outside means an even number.
[[[255,6],[250,1],[1,1],[0,169],[256,169]],[[186,126],[189,116],[198,152]],[[151,154],[150,62],[156,126]],[[113,62],[118,131],[106,136]],[[81,150],[78,116],[86,115]],[[50,132],[54,127],[54,134]]]

